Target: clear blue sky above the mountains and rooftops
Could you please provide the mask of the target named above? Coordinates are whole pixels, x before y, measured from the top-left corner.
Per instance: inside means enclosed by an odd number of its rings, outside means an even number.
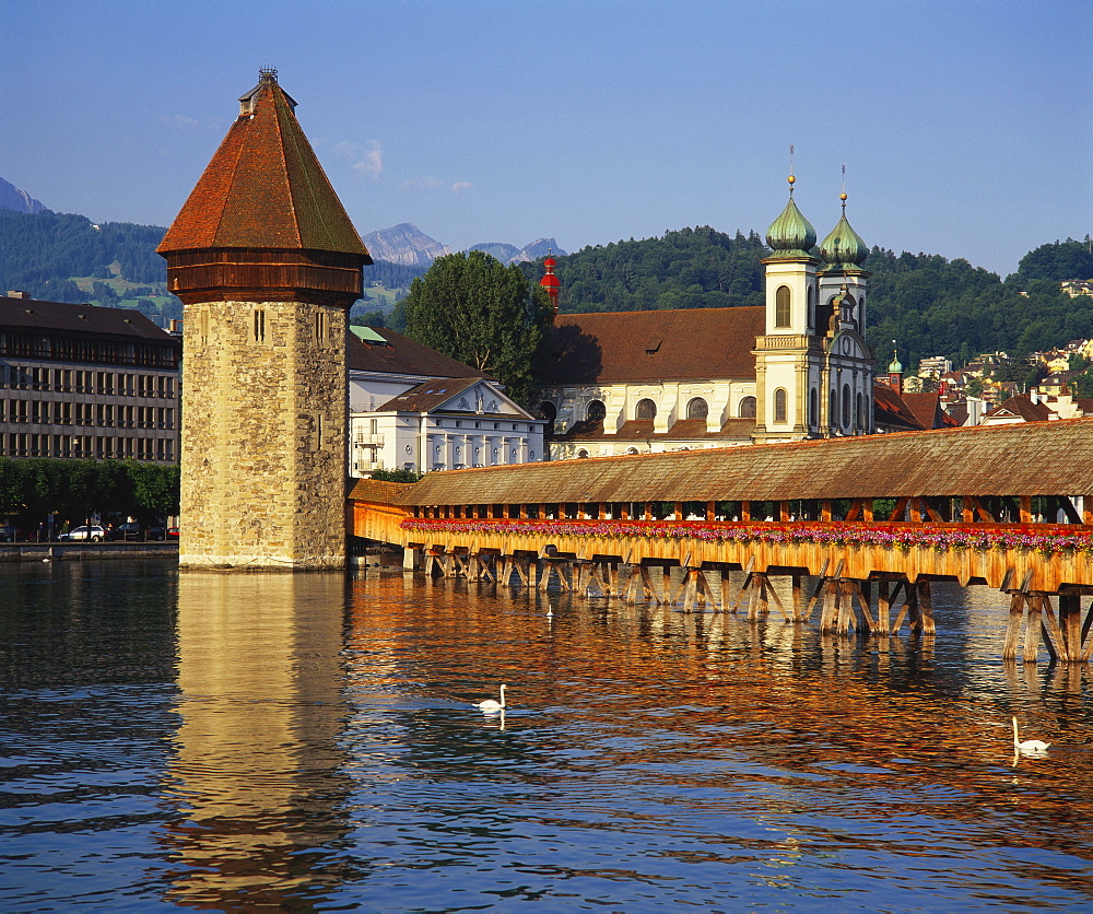
[[[275,67],[362,235],[566,250],[686,225],[1003,276],[1093,232],[1089,0],[9,0],[0,177],[167,225]]]

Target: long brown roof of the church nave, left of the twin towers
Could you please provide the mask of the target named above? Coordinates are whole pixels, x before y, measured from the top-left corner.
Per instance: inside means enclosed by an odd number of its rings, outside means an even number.
[[[566,314],[554,319],[546,384],[754,378],[762,307]]]

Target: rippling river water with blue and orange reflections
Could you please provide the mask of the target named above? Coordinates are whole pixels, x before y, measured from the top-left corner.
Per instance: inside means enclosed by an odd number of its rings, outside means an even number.
[[[939,585],[931,644],[397,570],[0,574],[3,910],[1093,904],[1090,675],[1007,668],[987,588]]]

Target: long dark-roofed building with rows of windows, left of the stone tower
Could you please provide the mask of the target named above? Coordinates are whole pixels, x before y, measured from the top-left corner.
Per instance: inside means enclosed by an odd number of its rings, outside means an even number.
[[[0,298],[0,457],[177,462],[181,343],[138,310]]]

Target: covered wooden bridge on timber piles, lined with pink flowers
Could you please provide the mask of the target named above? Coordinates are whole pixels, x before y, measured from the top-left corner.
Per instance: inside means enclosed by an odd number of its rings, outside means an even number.
[[[1007,657],[1093,652],[1091,419],[362,480],[350,513],[353,535],[434,575],[752,617],[773,604],[787,621],[820,607],[824,631],[930,635],[931,582],[988,585],[1010,595]]]

